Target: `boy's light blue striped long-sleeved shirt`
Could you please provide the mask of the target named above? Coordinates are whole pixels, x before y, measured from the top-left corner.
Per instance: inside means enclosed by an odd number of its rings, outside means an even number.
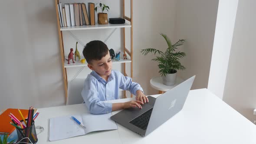
[[[141,85],[132,82],[130,77],[112,70],[107,82],[97,72],[92,71],[85,79],[81,95],[92,114],[105,114],[112,111],[112,103],[105,101],[118,99],[119,88],[130,91],[133,95],[136,95],[137,90],[143,92]]]

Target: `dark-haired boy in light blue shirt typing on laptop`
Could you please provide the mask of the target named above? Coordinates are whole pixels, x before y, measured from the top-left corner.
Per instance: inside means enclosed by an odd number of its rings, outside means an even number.
[[[148,98],[143,94],[141,86],[132,82],[117,70],[112,70],[112,61],[107,45],[99,40],[86,44],[83,55],[92,72],[85,79],[82,98],[92,114],[105,114],[123,108],[138,107]],[[124,103],[107,103],[105,101],[118,99],[118,89],[129,90],[136,95],[136,101]]]

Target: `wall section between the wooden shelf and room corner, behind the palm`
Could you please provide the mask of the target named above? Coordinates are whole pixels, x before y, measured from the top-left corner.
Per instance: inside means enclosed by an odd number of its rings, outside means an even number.
[[[155,56],[144,56],[141,49],[167,49],[167,44],[160,33],[165,33],[174,39],[174,21],[176,15],[176,0],[133,0],[133,77],[139,82],[146,95],[158,94],[150,86],[150,79],[159,76],[156,62],[151,61]]]

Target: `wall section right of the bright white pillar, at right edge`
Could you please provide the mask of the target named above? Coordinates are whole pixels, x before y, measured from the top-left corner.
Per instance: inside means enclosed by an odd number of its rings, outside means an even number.
[[[255,0],[239,0],[223,101],[250,121],[256,120]],[[231,120],[232,121],[232,120]]]

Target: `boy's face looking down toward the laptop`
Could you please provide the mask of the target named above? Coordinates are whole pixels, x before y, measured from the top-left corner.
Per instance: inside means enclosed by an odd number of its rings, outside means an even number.
[[[97,72],[98,75],[100,75],[102,78],[110,75],[112,69],[112,61],[109,52],[101,60],[92,60],[92,64],[88,64],[88,67],[89,69]]]

